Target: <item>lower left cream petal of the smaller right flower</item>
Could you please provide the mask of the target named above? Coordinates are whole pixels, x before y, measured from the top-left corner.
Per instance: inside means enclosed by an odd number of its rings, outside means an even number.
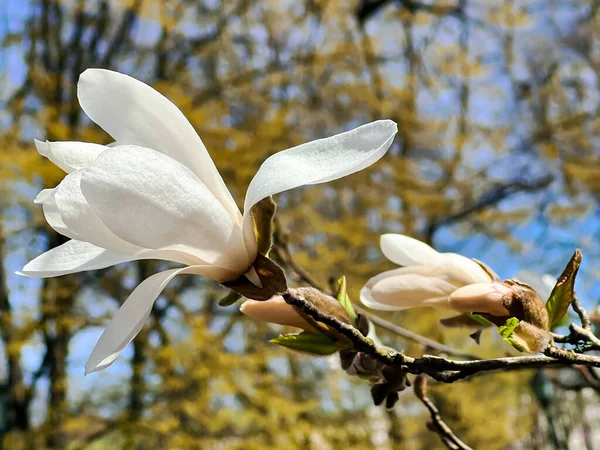
[[[386,311],[420,306],[449,308],[448,295],[456,290],[456,286],[442,277],[402,270],[371,278],[361,290],[361,301],[370,308]]]

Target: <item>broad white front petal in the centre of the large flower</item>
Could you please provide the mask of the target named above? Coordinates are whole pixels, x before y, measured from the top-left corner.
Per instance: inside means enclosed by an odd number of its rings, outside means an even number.
[[[83,172],[81,190],[100,220],[127,242],[182,250],[242,272],[252,263],[223,205],[187,167],[162,153],[110,148]]]

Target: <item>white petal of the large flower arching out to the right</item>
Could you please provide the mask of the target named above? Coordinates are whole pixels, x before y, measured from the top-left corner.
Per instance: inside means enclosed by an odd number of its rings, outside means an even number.
[[[244,238],[249,252],[256,249],[250,220],[250,210],[256,203],[289,189],[336,180],[370,166],[387,152],[397,131],[395,122],[378,120],[269,157],[246,192]]]

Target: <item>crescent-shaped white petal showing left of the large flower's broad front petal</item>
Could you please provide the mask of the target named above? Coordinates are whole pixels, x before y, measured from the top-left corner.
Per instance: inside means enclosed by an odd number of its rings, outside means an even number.
[[[54,193],[60,217],[69,233],[77,236],[79,240],[117,253],[133,255],[143,250],[141,247],[117,237],[92,211],[81,192],[81,177],[85,170],[87,169],[76,170],[68,174]],[[115,199],[117,198],[115,197]]]

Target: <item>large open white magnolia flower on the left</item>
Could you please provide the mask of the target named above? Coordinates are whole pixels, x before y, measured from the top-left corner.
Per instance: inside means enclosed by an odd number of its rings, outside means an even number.
[[[377,121],[271,156],[250,183],[241,214],[192,125],[160,93],[127,75],[90,69],[77,94],[85,113],[116,142],[36,142],[68,175],[35,201],[52,228],[71,240],[21,273],[53,277],[139,259],[185,265],[152,275],[133,291],[100,337],[86,373],[112,364],[176,275],[230,281],[247,273],[259,284],[247,272],[257,255],[251,208],[270,195],[368,167],[397,131],[394,122]]]

